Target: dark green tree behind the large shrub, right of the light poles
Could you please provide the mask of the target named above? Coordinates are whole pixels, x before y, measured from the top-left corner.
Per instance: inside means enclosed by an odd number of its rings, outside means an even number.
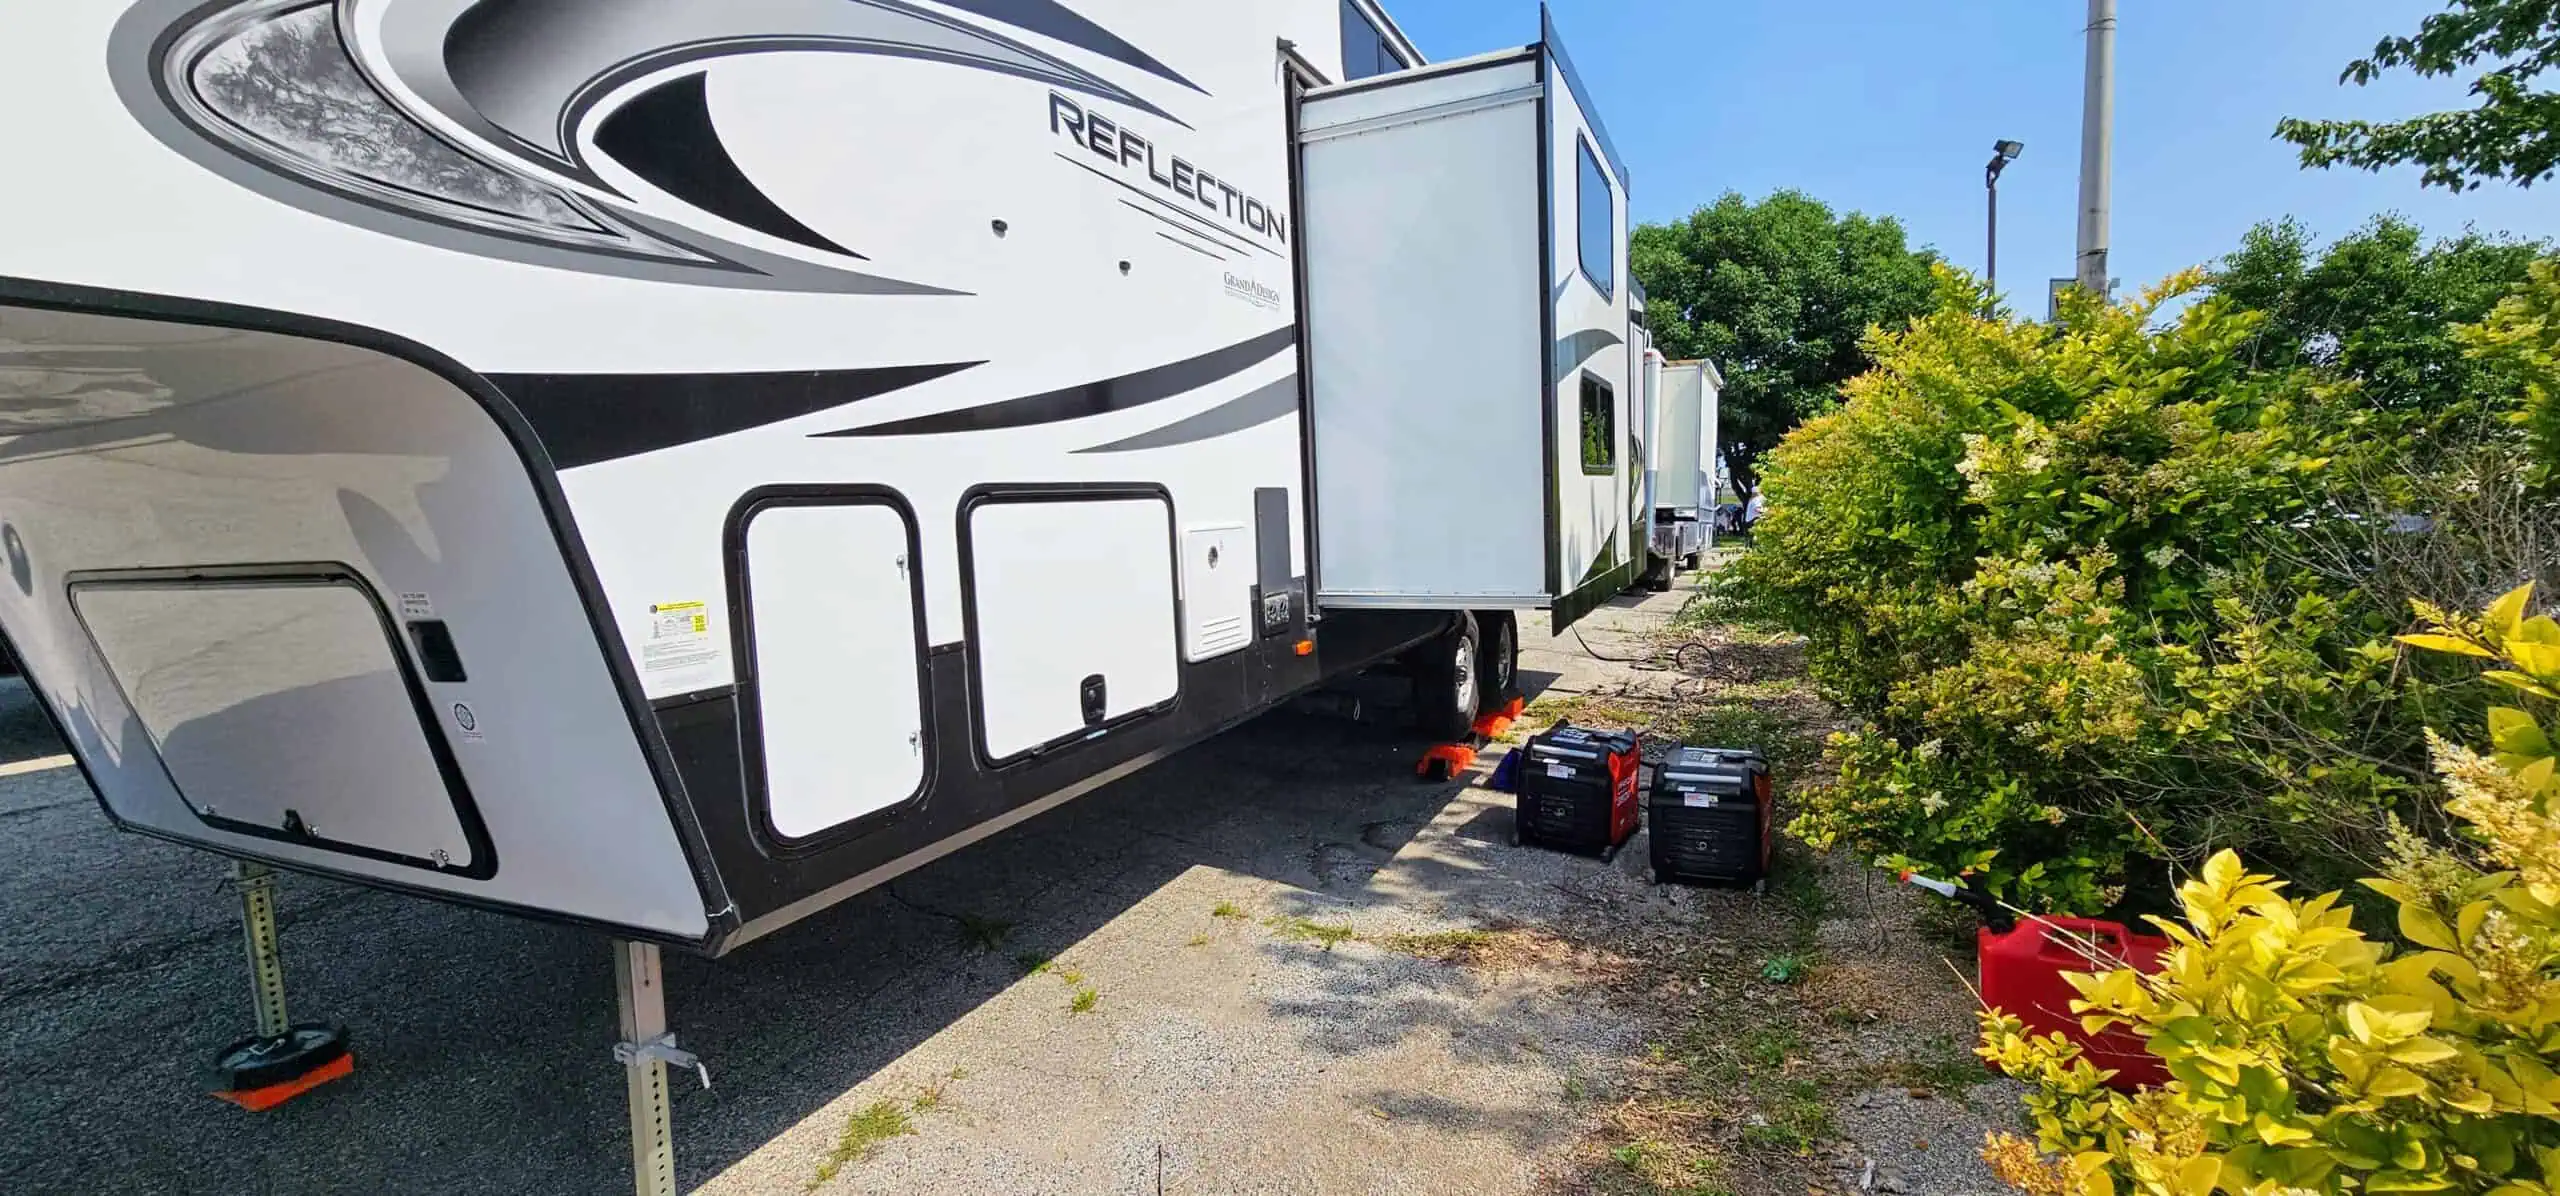
[[[2376,407],[2442,410],[2481,394],[2488,369],[2465,356],[2455,328],[2486,320],[2545,251],[2470,230],[2427,243],[2391,215],[2322,248],[2299,220],[2278,220],[2250,228],[2222,259],[2214,292],[2266,312],[2243,359],[2355,379]]]

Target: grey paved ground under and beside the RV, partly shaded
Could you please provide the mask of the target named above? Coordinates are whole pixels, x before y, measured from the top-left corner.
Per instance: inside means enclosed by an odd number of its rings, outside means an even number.
[[[1603,610],[1587,638],[1615,656],[1679,599]],[[1523,640],[1523,681],[1549,694],[1651,684],[1574,638]],[[0,753],[51,750],[0,684]],[[727,960],[671,955],[671,1022],[717,1081],[678,1083],[684,1186],[1628,1191],[1592,1132],[1659,1027],[1610,1004],[1569,942],[1761,907],[1644,884],[1641,845],[1615,866],[1510,848],[1508,796],[1413,781],[1418,750],[1375,720],[1277,712]],[[0,827],[5,1191],[627,1191],[599,937],[289,878],[294,1012],[351,1024],[361,1063],[251,1117],[200,1078],[248,1019],[223,866],[110,832],[72,768],[0,776]],[[1487,925],[1539,950],[1395,948]],[[1925,983],[1935,1004],[1961,994]],[[822,1183],[883,1101],[906,1132]],[[1994,1088],[1841,1109],[1836,1152],[1761,1160],[1741,1191],[1830,1186],[1861,1158],[1910,1193],[1994,1191],[1961,1168],[1974,1104],[1992,1117]]]

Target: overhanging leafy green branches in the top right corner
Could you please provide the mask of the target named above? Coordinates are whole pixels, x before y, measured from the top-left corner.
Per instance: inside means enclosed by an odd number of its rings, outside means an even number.
[[[2560,92],[2534,90],[2560,69],[2560,0],[2452,0],[2419,20],[2417,36],[2383,38],[2337,77],[2358,87],[2383,72],[2455,77],[2470,69],[2478,108],[2409,120],[2281,120],[2304,166],[2383,169],[2419,164],[2422,184],[2470,190],[2486,179],[2532,187],[2560,172]]]

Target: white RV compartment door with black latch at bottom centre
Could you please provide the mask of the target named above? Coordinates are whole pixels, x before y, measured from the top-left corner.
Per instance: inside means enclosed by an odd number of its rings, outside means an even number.
[[[970,505],[965,535],[973,699],[988,763],[1172,707],[1183,651],[1170,497],[986,494]]]

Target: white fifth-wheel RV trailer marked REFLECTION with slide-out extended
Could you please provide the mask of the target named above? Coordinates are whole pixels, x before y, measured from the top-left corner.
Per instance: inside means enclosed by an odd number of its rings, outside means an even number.
[[[1377,661],[1464,727],[1633,569],[1551,26],[0,0],[0,630],[108,820],[266,948],[266,868],[614,935],[643,1186],[658,945]]]

